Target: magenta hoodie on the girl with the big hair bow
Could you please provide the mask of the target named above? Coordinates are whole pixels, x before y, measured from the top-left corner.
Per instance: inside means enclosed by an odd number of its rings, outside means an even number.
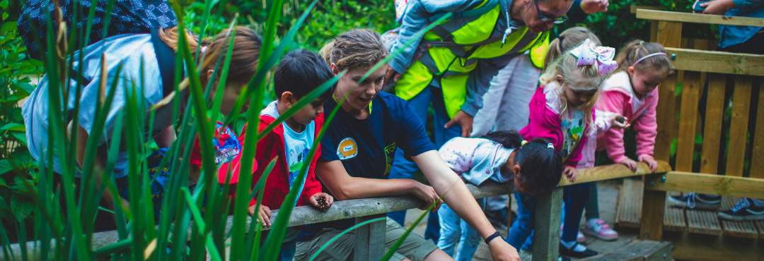
[[[530,100],[530,115],[528,126],[520,130],[520,135],[526,140],[533,138],[545,138],[552,145],[555,145],[555,152],[560,153],[565,142],[565,135],[571,135],[569,132],[562,131],[562,120],[558,111],[561,110],[557,102],[555,102],[558,87],[557,81],[552,81],[549,84],[539,86],[536,89],[536,93],[533,94],[533,98]],[[549,88],[547,88],[549,87]],[[547,97],[550,98],[549,102]],[[554,97],[556,100],[551,100]],[[594,119],[594,110],[592,110],[592,118]],[[589,126],[584,126],[583,133],[589,133]],[[580,135],[578,138],[578,145],[570,151],[568,161],[565,161],[566,166],[576,167],[578,161],[581,161],[581,150],[586,144],[588,135]]]

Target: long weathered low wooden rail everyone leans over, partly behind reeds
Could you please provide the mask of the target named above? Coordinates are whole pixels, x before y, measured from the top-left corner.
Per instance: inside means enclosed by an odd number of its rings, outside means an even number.
[[[671,166],[669,166],[669,164],[665,161],[658,162],[659,172],[666,172],[671,170]],[[643,162],[639,162],[638,170],[636,172],[632,172],[623,164],[588,167],[582,168],[578,171],[578,179],[574,183],[569,182],[565,179],[565,177],[563,177],[559,186],[569,186],[575,183],[587,183],[599,180],[612,180],[621,177],[641,176],[652,173],[649,170],[647,164]],[[470,193],[472,193],[472,196],[474,196],[475,199],[482,199],[490,196],[515,193],[514,188],[510,184],[511,183],[496,183],[493,181],[487,181],[481,186],[474,186],[473,184],[468,183],[467,188],[470,190]],[[421,199],[416,198],[416,196],[388,196],[380,198],[336,201],[332,205],[332,208],[329,208],[329,211],[327,212],[320,212],[311,206],[299,206],[294,208],[292,215],[290,216],[288,226],[293,227],[304,224],[335,221],[345,218],[358,218],[368,215],[377,215],[387,212],[406,210],[410,208],[420,208],[423,204],[424,202],[422,202]],[[270,220],[276,221],[276,218],[279,215],[278,213],[278,209],[274,210],[270,216]],[[251,221],[252,218],[247,217],[247,229],[249,229]],[[557,222],[556,224],[559,223]],[[225,234],[228,234],[232,226],[233,216],[228,216],[225,224]],[[264,230],[267,229],[270,228],[264,228]],[[191,234],[191,228],[189,227],[189,231],[186,233],[186,240],[190,240]],[[94,233],[92,236],[92,248],[99,249],[112,243],[116,243],[118,238],[119,237],[117,231]],[[40,250],[39,243],[37,243],[38,246],[35,246],[35,243],[36,242],[34,241],[27,243],[27,250],[29,251],[32,259],[34,259],[34,255],[37,255],[37,251]],[[51,247],[55,247],[54,242],[51,243]],[[19,248],[18,243],[11,244],[10,249],[11,253],[16,257],[16,259],[21,258],[21,249]],[[3,260],[5,260],[4,256],[0,255],[0,261]]]

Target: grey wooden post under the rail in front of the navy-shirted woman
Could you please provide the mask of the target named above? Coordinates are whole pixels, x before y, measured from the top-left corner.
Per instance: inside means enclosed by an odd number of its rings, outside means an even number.
[[[387,214],[367,215],[365,217],[355,218],[355,223],[371,220],[374,218],[383,218]],[[374,221],[355,229],[355,249],[354,260],[379,260],[384,256],[385,227],[384,220]]]

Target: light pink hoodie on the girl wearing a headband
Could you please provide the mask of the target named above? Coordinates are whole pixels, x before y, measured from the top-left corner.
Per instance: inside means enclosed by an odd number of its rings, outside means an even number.
[[[634,103],[639,102],[633,94],[629,74],[618,72],[604,81],[597,110],[620,113],[629,119],[636,130],[636,155],[652,157],[652,148],[656,143],[656,106],[658,106],[658,88],[645,95],[644,103],[634,110]],[[607,156],[616,163],[626,159],[623,153],[623,129],[610,129],[597,135],[597,151],[607,148]]]

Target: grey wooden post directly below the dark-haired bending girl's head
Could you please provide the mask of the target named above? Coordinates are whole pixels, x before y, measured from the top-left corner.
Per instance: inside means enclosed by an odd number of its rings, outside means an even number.
[[[562,187],[552,193],[536,196],[533,232],[533,261],[557,260],[560,245],[560,210]]]

